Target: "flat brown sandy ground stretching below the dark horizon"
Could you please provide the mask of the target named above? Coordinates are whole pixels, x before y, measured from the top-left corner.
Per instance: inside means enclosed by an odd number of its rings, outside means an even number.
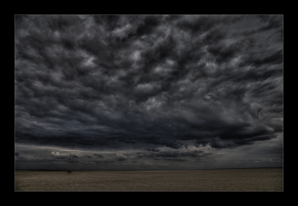
[[[71,174],[15,170],[15,191],[283,191],[283,168]]]

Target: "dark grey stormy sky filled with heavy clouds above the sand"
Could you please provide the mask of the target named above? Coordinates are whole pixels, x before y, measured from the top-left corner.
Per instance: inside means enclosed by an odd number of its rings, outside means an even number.
[[[16,15],[15,169],[283,166],[283,15]]]

